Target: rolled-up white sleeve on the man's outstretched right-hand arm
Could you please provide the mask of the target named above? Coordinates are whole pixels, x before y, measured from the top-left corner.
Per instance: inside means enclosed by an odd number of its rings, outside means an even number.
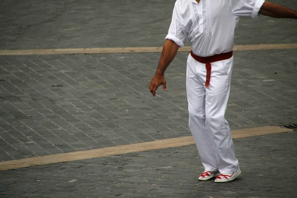
[[[237,16],[257,18],[265,0],[231,0],[232,11]]]

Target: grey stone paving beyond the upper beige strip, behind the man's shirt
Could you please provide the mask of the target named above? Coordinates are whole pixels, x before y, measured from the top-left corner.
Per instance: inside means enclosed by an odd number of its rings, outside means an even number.
[[[175,0],[1,0],[0,49],[162,46]],[[271,0],[297,10],[296,0]],[[297,43],[296,21],[242,18],[236,45]]]

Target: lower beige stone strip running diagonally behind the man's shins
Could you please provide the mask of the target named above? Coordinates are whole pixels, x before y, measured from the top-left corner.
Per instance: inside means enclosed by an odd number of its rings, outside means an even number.
[[[284,133],[284,132],[291,132],[291,131],[293,130],[287,129],[284,127],[265,126],[265,127],[251,128],[251,129],[234,130],[232,131],[232,138],[233,139],[247,138],[252,136],[262,136],[267,134]],[[153,150],[153,149],[181,147],[181,146],[193,145],[193,144],[195,144],[193,137],[188,136],[188,137],[172,138],[167,140],[158,140],[158,141],[152,141],[152,142],[146,142],[146,143],[117,146],[117,147],[82,150],[82,151],[53,154],[53,155],[47,155],[47,156],[41,156],[41,157],[3,161],[3,162],[0,162],[0,170],[10,170],[10,169],[30,167],[30,166],[59,163],[59,162],[97,158],[97,157],[110,156],[110,155],[116,155],[116,154],[140,152],[140,151]]]

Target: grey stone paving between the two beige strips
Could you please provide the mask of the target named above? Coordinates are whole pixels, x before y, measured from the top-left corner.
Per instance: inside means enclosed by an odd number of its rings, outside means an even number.
[[[188,53],[148,84],[159,53],[0,57],[0,160],[190,136]],[[297,123],[297,49],[235,52],[232,129]]]

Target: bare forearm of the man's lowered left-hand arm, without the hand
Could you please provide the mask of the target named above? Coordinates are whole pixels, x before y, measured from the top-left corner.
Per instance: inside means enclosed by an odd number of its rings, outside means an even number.
[[[173,41],[165,41],[156,74],[164,75],[166,68],[174,59],[178,49],[179,46]]]

